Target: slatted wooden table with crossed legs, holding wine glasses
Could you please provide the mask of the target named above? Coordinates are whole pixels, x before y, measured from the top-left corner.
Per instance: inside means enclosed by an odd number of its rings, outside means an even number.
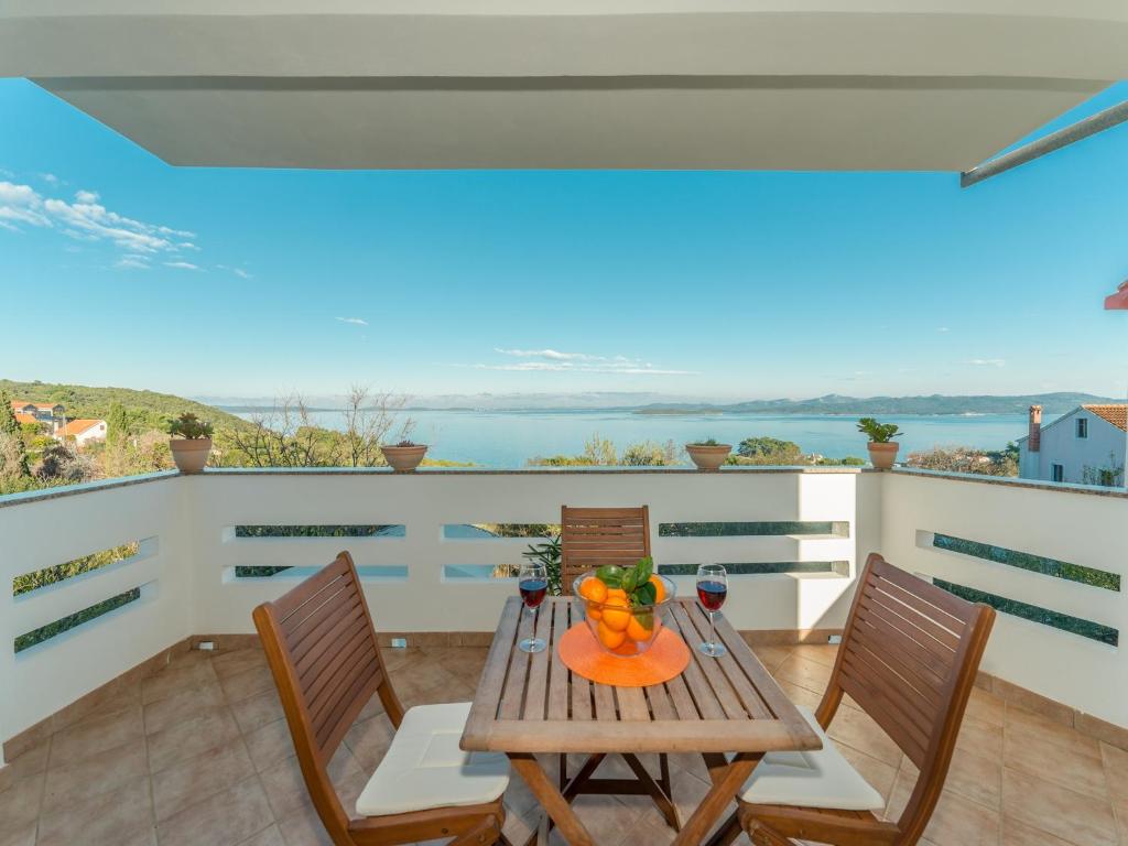
[[[689,666],[677,678],[645,688],[593,684],[564,666],[556,642],[569,626],[581,622],[582,615],[570,597],[546,599],[535,622],[522,610],[519,597],[505,603],[461,746],[468,751],[509,755],[513,769],[572,846],[594,844],[572,810],[575,791],[569,790],[573,786],[570,783],[562,792],[536,754],[601,757],[617,752],[628,760],[640,754],[702,754],[713,787],[673,841],[697,846],[765,752],[821,747],[818,735],[725,619],[717,618],[716,635],[729,654],[714,659],[697,651],[697,644],[708,636],[708,617],[693,599],[675,600],[666,615],[666,625],[689,645]],[[548,642],[548,649],[530,655],[517,643],[534,628],[536,636]],[[730,760],[722,752],[735,752],[735,757]],[[644,777],[635,773],[640,779]]]

